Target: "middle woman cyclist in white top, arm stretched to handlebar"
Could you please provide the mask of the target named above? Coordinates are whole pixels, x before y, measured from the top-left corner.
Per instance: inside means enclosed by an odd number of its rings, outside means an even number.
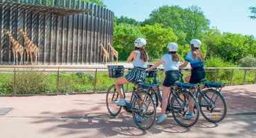
[[[177,55],[178,45],[176,43],[169,43],[167,45],[168,54],[163,55],[163,57],[151,68],[146,71],[152,70],[158,67],[161,63],[165,65],[165,80],[162,82],[163,90],[162,90],[162,110],[161,115],[158,117],[157,124],[160,124],[164,119],[167,118],[165,115],[165,110],[167,108],[167,98],[168,93],[175,81],[179,81],[179,62],[180,58]]]

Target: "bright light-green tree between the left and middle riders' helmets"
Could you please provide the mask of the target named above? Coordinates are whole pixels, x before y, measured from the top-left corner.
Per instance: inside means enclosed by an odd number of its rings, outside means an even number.
[[[140,31],[147,38],[146,49],[150,59],[163,56],[167,52],[167,44],[178,40],[172,28],[163,28],[163,24],[159,23],[140,27]]]

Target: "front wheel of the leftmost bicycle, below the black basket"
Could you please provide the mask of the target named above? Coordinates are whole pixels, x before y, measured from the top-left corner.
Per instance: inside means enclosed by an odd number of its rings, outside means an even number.
[[[110,86],[106,95],[107,110],[110,115],[116,116],[120,113],[122,107],[115,104],[115,101],[118,101],[118,99],[120,100],[116,85]]]

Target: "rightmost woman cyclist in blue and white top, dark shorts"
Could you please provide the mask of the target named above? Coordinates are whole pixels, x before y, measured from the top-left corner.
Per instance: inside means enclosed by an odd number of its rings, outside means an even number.
[[[199,39],[192,39],[190,41],[191,51],[188,52],[187,57],[185,57],[185,62],[179,66],[179,68],[185,68],[190,62],[191,75],[185,77],[187,83],[199,83],[201,79],[205,78],[205,70],[203,69],[203,54],[199,49],[201,47],[201,41]],[[194,117],[193,104],[190,104],[188,115],[184,119],[190,119]]]

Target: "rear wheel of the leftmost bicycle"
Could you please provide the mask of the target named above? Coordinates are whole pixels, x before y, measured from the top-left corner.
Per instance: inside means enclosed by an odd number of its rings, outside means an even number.
[[[156,103],[149,93],[138,92],[131,103],[131,108],[134,109],[132,116],[135,124],[142,130],[148,130],[156,121]],[[138,117],[142,117],[143,121],[138,121]]]

